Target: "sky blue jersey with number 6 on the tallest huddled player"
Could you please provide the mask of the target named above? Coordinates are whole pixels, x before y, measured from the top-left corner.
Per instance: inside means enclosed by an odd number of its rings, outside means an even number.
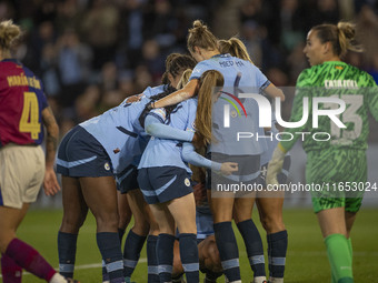
[[[228,155],[261,154],[266,142],[256,139],[257,135],[263,135],[263,129],[258,125],[258,104],[253,99],[242,99],[240,93],[261,93],[270,81],[251,62],[230,54],[219,54],[199,62],[190,80],[199,79],[207,70],[217,70],[225,78],[221,95],[212,108],[215,141],[208,151]],[[226,107],[230,109],[228,115]],[[229,120],[228,125],[226,120]],[[238,133],[242,132],[253,137],[238,139]]]

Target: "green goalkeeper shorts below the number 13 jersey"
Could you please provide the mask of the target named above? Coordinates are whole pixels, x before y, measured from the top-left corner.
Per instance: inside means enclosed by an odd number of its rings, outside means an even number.
[[[315,213],[334,208],[357,212],[367,181],[365,150],[324,149],[307,153],[306,182],[311,190]]]

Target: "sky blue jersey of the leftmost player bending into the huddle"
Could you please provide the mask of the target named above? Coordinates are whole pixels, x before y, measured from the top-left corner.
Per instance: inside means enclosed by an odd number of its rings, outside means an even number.
[[[163,92],[163,85],[147,88],[140,101],[127,103],[125,100],[101,115],[80,123],[105,148],[115,174],[139,161],[149,135],[145,133],[138,118],[150,101],[149,98],[161,92]]]

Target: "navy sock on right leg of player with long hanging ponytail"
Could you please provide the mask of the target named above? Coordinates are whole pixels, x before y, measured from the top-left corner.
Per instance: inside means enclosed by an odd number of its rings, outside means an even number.
[[[199,282],[199,260],[197,247],[197,235],[181,233],[179,235],[180,257],[187,282]]]

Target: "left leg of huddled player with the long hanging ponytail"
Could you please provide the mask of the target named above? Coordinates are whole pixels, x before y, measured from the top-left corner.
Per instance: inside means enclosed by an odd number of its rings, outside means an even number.
[[[158,222],[160,234],[156,244],[160,282],[170,282],[173,266],[175,219],[165,204],[150,204]]]

